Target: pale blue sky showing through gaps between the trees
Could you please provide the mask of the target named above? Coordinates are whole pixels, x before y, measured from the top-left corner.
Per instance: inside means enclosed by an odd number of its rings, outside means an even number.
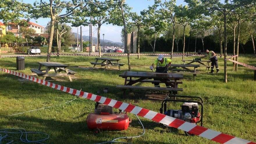
[[[39,0],[38,0],[39,1]],[[45,0],[47,1],[47,0]],[[25,3],[31,3],[33,4],[35,1],[34,0],[23,0]],[[127,4],[131,6],[133,9],[132,11],[140,13],[141,10],[147,9],[148,6],[151,6],[154,3],[154,0],[127,0]],[[177,0],[177,5],[184,4],[183,0]],[[49,18],[40,18],[40,19],[31,19],[31,22],[37,22],[41,26],[46,26],[47,23],[50,21]],[[82,33],[83,35],[89,35],[89,27],[82,27]],[[93,32],[94,36],[97,37],[97,31],[96,31],[96,26],[93,27]],[[112,24],[104,24],[101,27],[101,38],[102,34],[104,33],[105,36],[104,38],[106,40],[111,40],[114,42],[121,42],[120,39],[120,33],[121,33],[122,27],[121,26],[113,26]],[[73,32],[77,32],[77,28],[73,27],[72,28]],[[80,33],[80,28],[79,28],[79,33]],[[95,40],[96,41],[96,40]]]

